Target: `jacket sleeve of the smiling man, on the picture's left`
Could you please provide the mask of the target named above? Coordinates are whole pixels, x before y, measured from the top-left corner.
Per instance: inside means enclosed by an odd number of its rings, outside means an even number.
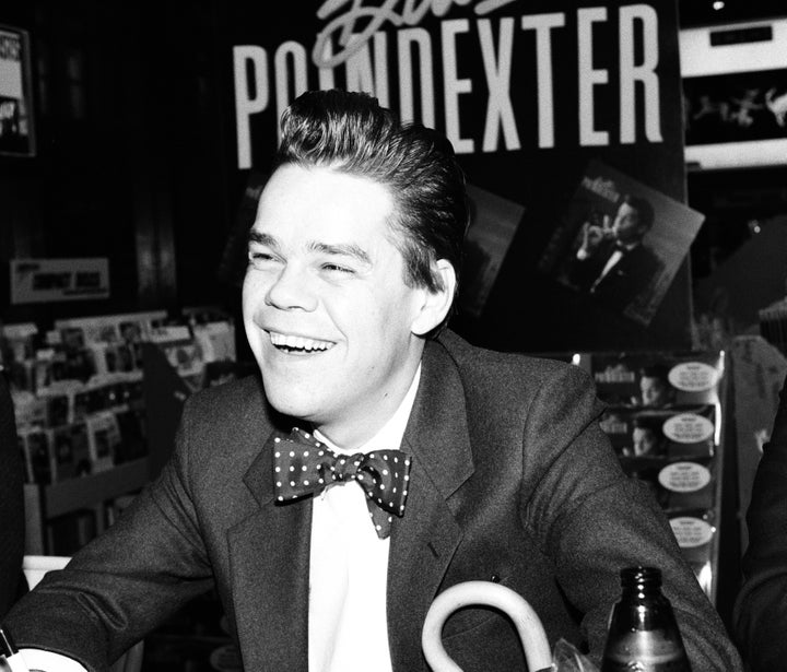
[[[188,403],[185,414],[188,414]],[[213,585],[189,492],[188,423],[160,478],[104,534],[51,571],[4,625],[20,648],[54,651],[90,672]]]

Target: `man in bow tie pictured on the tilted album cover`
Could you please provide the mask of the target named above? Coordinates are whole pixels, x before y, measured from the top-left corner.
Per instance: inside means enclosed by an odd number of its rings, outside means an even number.
[[[610,224],[583,225],[582,245],[569,269],[569,281],[599,303],[622,311],[644,292],[661,268],[643,244],[654,223],[654,209],[639,197],[624,194]]]

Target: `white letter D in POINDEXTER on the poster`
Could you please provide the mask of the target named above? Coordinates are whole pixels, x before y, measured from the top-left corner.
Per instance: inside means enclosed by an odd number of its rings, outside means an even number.
[[[419,80],[421,82],[421,122],[434,128],[434,64],[432,62],[432,37],[423,28],[406,28],[398,34],[399,50],[399,116],[402,121],[415,119],[413,93],[412,46],[418,49]],[[412,46],[411,46],[412,45]]]

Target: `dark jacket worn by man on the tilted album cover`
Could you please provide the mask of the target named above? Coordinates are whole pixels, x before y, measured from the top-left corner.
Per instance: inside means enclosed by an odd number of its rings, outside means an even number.
[[[622,310],[647,288],[661,268],[661,261],[649,247],[637,245],[624,252],[594,287],[613,251],[614,240],[602,241],[590,257],[574,261],[571,280],[580,290],[590,292],[600,303]]]

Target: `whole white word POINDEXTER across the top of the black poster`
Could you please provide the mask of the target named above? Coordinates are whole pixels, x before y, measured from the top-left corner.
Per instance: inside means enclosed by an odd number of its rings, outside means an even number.
[[[344,11],[345,21],[352,17],[346,25],[359,21],[361,31],[361,26],[366,27],[373,17],[401,25],[415,23],[427,12],[441,16],[459,4],[456,0],[379,0],[381,8],[364,7],[368,1],[332,0],[326,1],[322,9],[330,10],[328,13],[333,15],[338,10]],[[467,4],[472,0],[462,1]],[[492,11],[507,1],[478,2],[475,13]],[[567,12],[503,16],[497,20],[497,25],[492,19],[474,22],[447,19],[435,24],[435,31],[398,30],[396,42],[392,42],[391,31],[366,35],[364,30],[344,36],[346,26],[337,27],[329,36],[337,42],[345,37],[348,42],[342,46],[330,38],[322,39],[317,67],[309,62],[307,47],[296,42],[285,42],[275,51],[250,45],[235,46],[238,167],[248,168],[252,163],[250,129],[254,115],[269,110],[272,117],[275,96],[278,120],[286,106],[308,89],[309,81],[320,89],[340,86],[366,91],[385,107],[391,106],[390,101],[395,105],[398,101],[402,120],[442,127],[459,154],[520,150],[524,127],[518,127],[517,122],[531,114],[538,114],[540,149],[571,143],[575,134],[579,146],[609,145],[610,137],[622,145],[631,145],[637,141],[637,134],[643,141],[663,142],[661,87],[657,72],[660,64],[657,11],[644,3],[620,8],[618,35],[612,33],[612,24],[607,23],[607,7],[584,7],[575,11],[575,16]],[[522,32],[519,35],[514,27],[517,21]],[[566,26],[571,26],[571,32]],[[477,36],[469,35],[473,31]],[[530,51],[533,39],[529,35],[522,36],[525,31],[535,32],[535,55]],[[599,45],[602,38],[609,44]],[[517,39],[525,46],[515,44]],[[564,48],[573,51],[574,45],[566,40],[576,45],[577,69],[557,78],[553,71],[553,52]],[[339,54],[343,54],[341,59],[334,58]],[[442,72],[435,72],[438,61]],[[329,64],[337,62],[342,62],[344,68]],[[481,66],[483,72],[477,74]],[[396,79],[391,82],[390,76]],[[518,84],[521,89],[522,80],[532,81],[536,91],[517,92],[517,96],[513,96],[515,90],[512,86]],[[616,91],[609,85],[615,80],[620,84],[614,87]],[[577,86],[577,126],[566,129],[565,140],[561,140],[556,138],[555,96],[565,98],[559,87],[574,85]],[[391,86],[398,86],[398,91]],[[572,97],[571,92],[567,93]],[[468,95],[462,98],[465,94]],[[615,94],[619,94],[618,101]],[[437,96],[442,96],[443,123],[436,119]],[[517,105],[522,105],[524,109],[517,109]],[[484,107],[485,116],[480,120],[478,113]],[[603,117],[600,109],[606,110]],[[614,115],[608,114],[612,111],[619,113],[616,121],[611,118]],[[483,129],[480,128],[482,122]],[[620,135],[613,130],[614,123],[620,126]]]

